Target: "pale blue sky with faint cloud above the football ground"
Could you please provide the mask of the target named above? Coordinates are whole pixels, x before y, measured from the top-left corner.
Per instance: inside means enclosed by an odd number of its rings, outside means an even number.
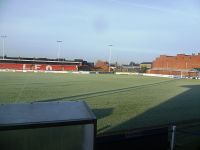
[[[200,52],[200,1],[0,0],[0,34],[8,56],[152,61]]]

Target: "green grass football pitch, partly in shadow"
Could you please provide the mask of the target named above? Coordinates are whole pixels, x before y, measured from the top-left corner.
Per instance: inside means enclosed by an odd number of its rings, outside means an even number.
[[[84,100],[98,134],[200,119],[200,80],[0,72],[0,103]]]

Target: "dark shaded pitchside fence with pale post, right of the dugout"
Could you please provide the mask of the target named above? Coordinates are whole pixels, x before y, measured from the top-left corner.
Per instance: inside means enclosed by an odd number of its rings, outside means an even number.
[[[200,150],[200,120],[100,135],[97,150]]]

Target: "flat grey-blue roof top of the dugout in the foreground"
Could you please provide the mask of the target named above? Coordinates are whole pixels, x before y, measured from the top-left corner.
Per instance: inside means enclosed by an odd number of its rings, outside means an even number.
[[[0,105],[0,130],[94,122],[83,101]]]

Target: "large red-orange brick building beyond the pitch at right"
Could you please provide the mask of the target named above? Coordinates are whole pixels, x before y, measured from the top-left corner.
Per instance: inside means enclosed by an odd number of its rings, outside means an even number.
[[[199,68],[200,53],[197,55],[161,55],[153,61],[152,69],[148,73],[196,77],[199,76]]]

